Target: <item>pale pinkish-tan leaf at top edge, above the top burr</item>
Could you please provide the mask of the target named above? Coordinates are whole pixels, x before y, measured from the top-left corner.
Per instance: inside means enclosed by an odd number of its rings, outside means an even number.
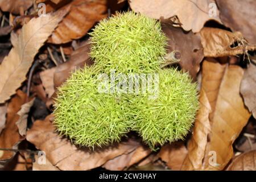
[[[135,12],[151,18],[168,19],[177,16],[185,31],[199,32],[208,20],[216,20],[221,23],[217,6],[216,16],[210,17],[210,3],[215,2],[213,0],[133,0],[130,1],[130,6]]]

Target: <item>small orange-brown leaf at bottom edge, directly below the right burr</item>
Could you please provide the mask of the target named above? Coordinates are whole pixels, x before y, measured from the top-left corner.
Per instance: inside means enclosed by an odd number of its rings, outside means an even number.
[[[184,142],[175,142],[166,144],[158,153],[159,158],[166,162],[167,166],[172,170],[180,170],[185,156],[188,154]]]

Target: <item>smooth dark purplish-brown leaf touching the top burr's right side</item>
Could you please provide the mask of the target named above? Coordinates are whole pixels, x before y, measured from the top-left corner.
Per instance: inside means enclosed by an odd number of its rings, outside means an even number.
[[[173,27],[168,20],[162,23],[162,29],[168,37],[168,53],[172,51],[181,54],[179,64],[196,80],[200,63],[204,58],[203,47],[199,35],[193,32],[185,33],[181,28]]]

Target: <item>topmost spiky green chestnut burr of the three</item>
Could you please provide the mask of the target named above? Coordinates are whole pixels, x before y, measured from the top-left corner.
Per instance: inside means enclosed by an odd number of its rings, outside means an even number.
[[[133,11],[102,20],[90,35],[90,55],[104,73],[152,73],[166,54],[160,23]]]

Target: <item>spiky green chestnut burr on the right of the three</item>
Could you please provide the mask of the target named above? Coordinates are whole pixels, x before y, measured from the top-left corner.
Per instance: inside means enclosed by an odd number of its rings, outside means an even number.
[[[188,133],[199,107],[196,84],[191,81],[188,73],[163,69],[156,97],[150,99],[152,92],[129,97],[134,130],[150,148],[183,139]]]

